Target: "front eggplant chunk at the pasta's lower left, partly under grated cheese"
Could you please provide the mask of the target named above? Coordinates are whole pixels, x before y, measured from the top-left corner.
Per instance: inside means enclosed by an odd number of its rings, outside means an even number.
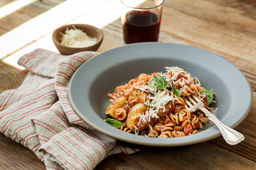
[[[141,131],[142,129],[146,128],[147,125],[145,125],[145,127],[141,125],[138,126],[137,123],[140,120],[140,117],[138,117],[138,115],[143,114],[143,112],[146,111],[147,108],[148,106],[144,103],[137,103],[133,107],[131,107],[131,110],[129,111],[126,118],[127,128],[131,129],[131,131],[135,131],[135,126],[138,128],[138,131]]]

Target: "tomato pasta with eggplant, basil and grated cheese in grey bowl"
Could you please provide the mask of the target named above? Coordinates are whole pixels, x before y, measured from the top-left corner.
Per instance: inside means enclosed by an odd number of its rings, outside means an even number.
[[[204,107],[213,110],[213,92],[179,67],[165,67],[166,73],[140,74],[109,93],[105,110],[116,128],[151,138],[175,138],[198,133],[208,122],[201,111],[190,112],[184,97],[195,95]]]

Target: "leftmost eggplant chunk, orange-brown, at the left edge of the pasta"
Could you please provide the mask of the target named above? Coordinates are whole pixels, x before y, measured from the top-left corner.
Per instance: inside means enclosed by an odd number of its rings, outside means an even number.
[[[105,110],[105,114],[109,118],[115,118],[116,108],[121,108],[126,104],[127,96],[121,96],[116,99],[113,103],[111,103],[108,108]]]

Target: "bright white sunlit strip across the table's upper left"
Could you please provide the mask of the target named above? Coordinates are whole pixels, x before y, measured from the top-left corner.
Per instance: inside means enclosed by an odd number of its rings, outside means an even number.
[[[50,34],[59,26],[62,26],[63,24],[67,24],[70,21],[73,21],[77,17],[84,15],[86,12],[90,12],[90,10],[93,10],[97,6],[104,5],[104,3],[108,1],[110,0],[83,1],[83,2],[81,2],[80,0],[65,1],[59,4],[58,6],[56,6],[54,9],[48,10],[48,12],[42,13],[41,15],[27,21],[26,23],[20,25],[19,27],[16,27],[16,28],[13,27],[12,31],[7,32],[6,34],[3,34],[0,37],[0,41],[5,41],[6,46],[12,47],[12,48],[6,48],[5,50],[3,50],[1,57],[7,57],[10,55],[13,55],[13,53],[15,53],[17,50],[23,49],[24,46],[33,44],[38,39],[45,37],[45,35]],[[70,6],[76,9],[76,10],[73,10],[72,13],[67,12],[69,11]],[[62,17],[58,17],[56,13],[60,13],[61,11],[65,11],[65,12],[62,13]],[[19,17],[16,17],[16,20],[19,20]],[[54,20],[54,21],[51,24],[49,24],[49,20]],[[81,23],[83,23],[83,21],[81,21]],[[1,22],[0,22],[0,26],[2,26]],[[29,34],[24,34],[24,32],[27,32],[28,30],[30,30]],[[37,31],[34,31],[34,30],[37,30]],[[19,37],[19,39],[22,39],[22,41],[15,41],[15,43],[13,43],[6,40],[9,37]],[[43,48],[42,45],[40,47]]]

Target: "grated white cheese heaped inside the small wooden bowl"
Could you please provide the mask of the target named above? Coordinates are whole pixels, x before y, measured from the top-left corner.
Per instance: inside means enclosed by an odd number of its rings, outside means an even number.
[[[86,32],[83,32],[74,26],[70,30],[67,28],[65,34],[61,32],[61,35],[61,45],[74,48],[91,46],[97,42],[97,38],[89,37]]]

